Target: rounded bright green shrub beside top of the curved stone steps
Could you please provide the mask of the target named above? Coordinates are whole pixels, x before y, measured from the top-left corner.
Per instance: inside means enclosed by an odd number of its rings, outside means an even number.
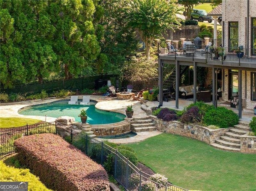
[[[204,116],[204,124],[216,125],[220,128],[234,127],[238,124],[238,120],[238,115],[225,107],[212,108]]]

